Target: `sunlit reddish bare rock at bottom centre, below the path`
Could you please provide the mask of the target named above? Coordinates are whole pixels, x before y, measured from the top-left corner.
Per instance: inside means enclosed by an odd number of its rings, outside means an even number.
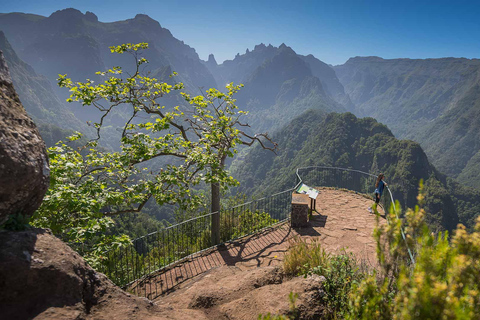
[[[287,315],[295,319],[321,319],[325,292],[321,276],[287,278],[280,267],[241,270],[222,266],[159,297],[159,307],[202,311],[208,319],[247,320],[259,314]],[[297,294],[295,309],[290,293]]]

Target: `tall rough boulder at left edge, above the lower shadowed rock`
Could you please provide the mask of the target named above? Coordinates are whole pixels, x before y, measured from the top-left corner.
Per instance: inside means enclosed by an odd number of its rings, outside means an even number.
[[[0,51],[0,225],[11,214],[35,212],[48,176],[45,143],[13,88]]]

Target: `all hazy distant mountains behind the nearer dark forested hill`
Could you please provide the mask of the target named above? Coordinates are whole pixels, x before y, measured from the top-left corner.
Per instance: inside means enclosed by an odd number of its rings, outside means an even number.
[[[10,55],[12,62],[8,57],[7,62],[23,70],[18,72],[18,79],[23,77],[17,85],[20,98],[27,111],[46,124],[83,128],[85,121],[97,118],[92,108],[65,104],[69,93],[56,86],[58,73],[77,81],[99,81],[94,75],[98,70],[121,65],[128,71],[131,57],[113,55],[108,46],[145,41],[150,44],[144,53],[150,74],[167,80],[176,71],[175,81],[184,82],[191,93],[222,89],[228,82],[245,84],[236,98],[239,108],[250,113],[252,132],[272,133],[309,109],[324,114],[350,111],[378,119],[399,138],[418,141],[442,172],[480,187],[478,59],[354,57],[331,67],[285,44],[259,44],[218,64],[213,55],[208,61],[199,59],[195,49],[147,15],[103,23],[94,13],[71,8],[49,17],[0,14],[0,30],[15,53]],[[41,80],[42,75],[47,80]],[[175,99],[163,102],[179,103]],[[58,115],[66,121],[59,122]],[[108,124],[109,137],[127,116],[119,112],[117,122]]]

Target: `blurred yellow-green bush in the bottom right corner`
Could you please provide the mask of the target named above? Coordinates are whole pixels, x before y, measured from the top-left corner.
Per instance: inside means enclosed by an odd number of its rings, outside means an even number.
[[[432,233],[425,223],[425,198],[400,213],[391,210],[388,225],[377,226],[380,270],[367,276],[351,295],[348,319],[477,319],[480,314],[480,219],[469,234],[459,225],[448,233]],[[400,228],[405,228],[403,240]],[[416,251],[411,264],[407,246]]]

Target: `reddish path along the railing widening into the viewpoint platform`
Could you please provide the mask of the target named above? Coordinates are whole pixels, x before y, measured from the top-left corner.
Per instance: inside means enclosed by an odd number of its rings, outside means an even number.
[[[309,226],[292,229],[288,223],[212,249],[175,267],[155,274],[132,290],[155,299],[172,289],[180,289],[195,281],[195,277],[220,266],[235,266],[249,270],[280,265],[289,247],[289,239],[300,236],[307,241],[319,239],[327,252],[338,253],[343,248],[358,259],[373,266],[375,243],[372,236],[375,215],[368,211],[373,201],[352,192],[320,189],[316,211]],[[383,212],[381,212],[383,214]],[[381,223],[386,223],[382,218]]]

